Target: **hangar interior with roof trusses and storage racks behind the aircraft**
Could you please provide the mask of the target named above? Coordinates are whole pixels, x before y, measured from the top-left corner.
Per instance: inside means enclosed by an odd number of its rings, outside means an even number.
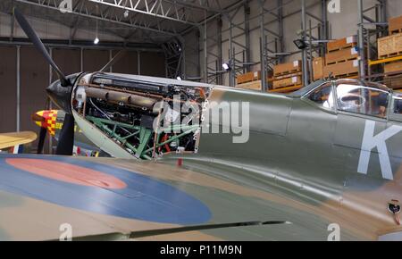
[[[333,65],[352,62],[356,72],[335,77],[400,85],[402,53],[377,58],[379,40],[401,32],[389,31],[390,19],[402,13],[400,0],[72,0],[71,10],[61,12],[62,2],[0,2],[2,132],[37,130],[30,116],[44,109],[44,90],[56,79],[13,7],[68,74],[98,71],[125,48],[129,53],[110,71],[287,93],[327,77],[320,58],[351,47],[357,54]],[[352,38],[351,45],[329,50],[342,38]],[[295,62],[296,71],[276,73],[277,66]],[[322,63],[321,75],[315,62]],[[389,63],[397,69],[387,74]],[[53,152],[52,141],[46,153]]]

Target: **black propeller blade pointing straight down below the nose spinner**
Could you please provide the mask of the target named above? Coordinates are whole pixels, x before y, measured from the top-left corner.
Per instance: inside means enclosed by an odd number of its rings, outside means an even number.
[[[65,113],[63,127],[60,131],[59,142],[56,148],[56,155],[72,155],[74,147],[74,117]]]

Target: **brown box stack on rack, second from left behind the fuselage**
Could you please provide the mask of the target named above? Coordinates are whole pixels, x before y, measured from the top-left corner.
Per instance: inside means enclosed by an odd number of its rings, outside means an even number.
[[[301,86],[302,63],[297,60],[292,63],[282,63],[273,67],[272,89]]]

